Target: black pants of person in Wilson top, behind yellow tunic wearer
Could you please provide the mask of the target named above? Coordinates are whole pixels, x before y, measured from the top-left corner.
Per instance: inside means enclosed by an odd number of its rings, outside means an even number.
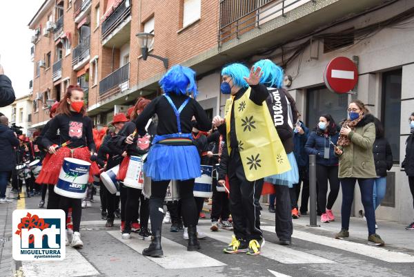
[[[290,211],[289,188],[275,185],[276,207],[275,207],[275,229],[279,240],[290,240],[293,233],[292,213]]]

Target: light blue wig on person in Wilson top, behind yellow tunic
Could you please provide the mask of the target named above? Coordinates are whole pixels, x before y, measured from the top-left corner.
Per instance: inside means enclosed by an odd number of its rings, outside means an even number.
[[[282,82],[284,77],[283,69],[277,66],[270,59],[261,59],[256,61],[255,70],[257,67],[262,68],[262,78],[260,78],[260,84],[264,84],[268,88],[282,88]]]

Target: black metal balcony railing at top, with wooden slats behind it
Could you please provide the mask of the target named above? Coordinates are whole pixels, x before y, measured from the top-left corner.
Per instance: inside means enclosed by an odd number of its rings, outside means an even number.
[[[221,0],[219,44],[239,38],[245,32],[309,1],[316,0]]]

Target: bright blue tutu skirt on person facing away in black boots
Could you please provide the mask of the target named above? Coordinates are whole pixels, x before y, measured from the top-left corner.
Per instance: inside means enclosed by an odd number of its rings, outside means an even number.
[[[200,156],[196,146],[151,146],[144,172],[152,180],[188,180],[201,176]]]

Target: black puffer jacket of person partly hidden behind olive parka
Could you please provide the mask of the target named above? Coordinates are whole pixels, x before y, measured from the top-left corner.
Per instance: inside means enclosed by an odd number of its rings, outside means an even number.
[[[377,137],[373,144],[375,171],[378,177],[385,177],[386,171],[393,167],[393,153],[385,137]]]

